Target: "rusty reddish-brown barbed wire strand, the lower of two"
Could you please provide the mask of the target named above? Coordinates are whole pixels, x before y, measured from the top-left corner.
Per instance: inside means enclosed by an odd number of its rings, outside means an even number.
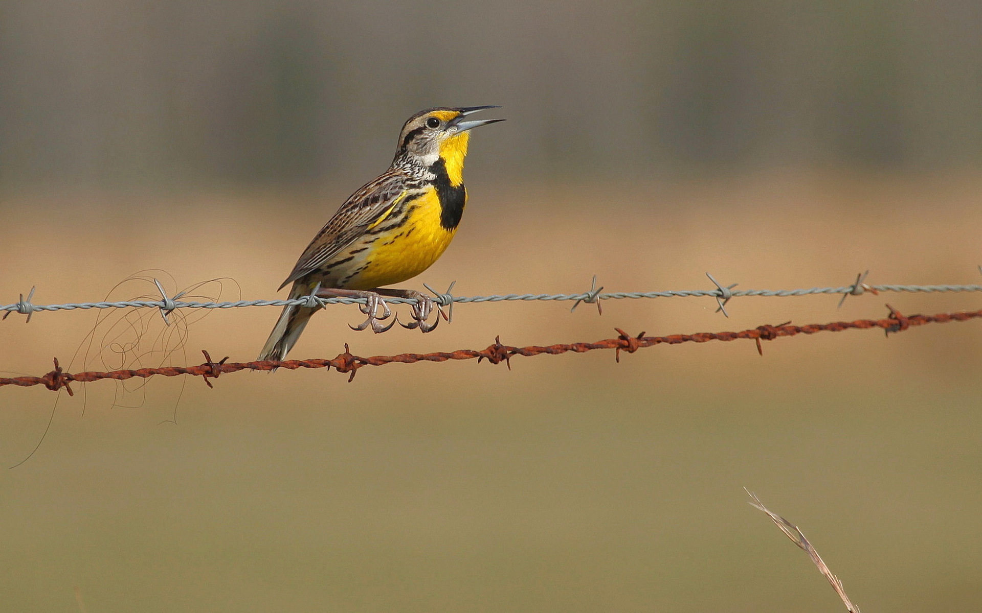
[[[29,387],[32,385],[44,385],[48,389],[57,391],[65,388],[69,395],[73,395],[70,383],[94,382],[103,379],[113,379],[125,381],[128,379],[142,378],[148,379],[156,375],[163,377],[177,377],[180,375],[191,375],[204,378],[204,382],[209,387],[212,386],[210,379],[218,379],[226,373],[236,373],[239,371],[273,371],[279,368],[297,370],[300,368],[334,368],[339,373],[350,373],[348,381],[355,379],[355,373],[364,366],[383,366],[396,362],[403,364],[414,364],[416,362],[446,362],[448,360],[472,360],[478,362],[488,360],[492,364],[505,362],[509,369],[512,368],[511,359],[517,355],[533,356],[540,354],[559,355],[567,352],[585,353],[595,349],[614,349],[616,359],[621,361],[621,352],[634,353],[644,347],[652,347],[658,344],[681,344],[683,342],[708,342],[710,340],[731,341],[738,339],[749,339],[756,343],[757,351],[763,355],[761,340],[774,340],[781,336],[794,336],[796,334],[814,334],[816,332],[842,332],[845,330],[869,330],[878,328],[888,335],[891,332],[903,332],[911,327],[925,326],[927,324],[944,324],[948,322],[966,322],[971,319],[982,318],[982,309],[978,311],[960,311],[955,313],[939,313],[937,315],[911,315],[909,317],[900,314],[889,304],[889,317],[881,320],[855,320],[852,322],[832,322],[830,324],[809,324],[807,326],[792,326],[791,323],[780,326],[758,326],[750,330],[741,332],[696,332],[694,334],[672,334],[668,336],[645,336],[644,332],[631,335],[620,328],[616,338],[605,338],[596,342],[573,342],[569,344],[554,345],[528,345],[525,347],[513,347],[502,344],[501,338],[496,337],[495,342],[482,350],[458,349],[449,352],[433,353],[400,353],[398,355],[375,355],[371,357],[360,357],[351,352],[348,343],[345,343],[345,352],[339,353],[332,359],[311,359],[311,360],[261,360],[254,362],[228,362],[228,357],[224,357],[218,362],[211,359],[207,351],[202,351],[205,362],[198,366],[169,366],[162,368],[142,368],[136,370],[118,370],[110,372],[89,371],[74,375],[65,373],[55,358],[53,371],[42,377],[13,377],[0,378],[0,386],[20,385]]]

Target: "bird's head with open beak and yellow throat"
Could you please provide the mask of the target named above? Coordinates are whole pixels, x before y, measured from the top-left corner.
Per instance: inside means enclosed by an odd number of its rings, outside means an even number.
[[[469,130],[505,121],[466,118],[472,113],[496,108],[498,107],[437,107],[416,113],[409,118],[399,134],[396,163],[410,162],[429,168],[442,158],[451,182],[459,184],[463,180],[461,173],[464,169],[464,156],[467,155]]]

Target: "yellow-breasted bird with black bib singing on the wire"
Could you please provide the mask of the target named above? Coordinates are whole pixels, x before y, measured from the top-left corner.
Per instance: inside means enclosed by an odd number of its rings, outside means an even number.
[[[313,294],[321,298],[365,298],[361,312],[368,318],[355,330],[392,328],[380,322],[392,316],[382,298],[415,298],[406,328],[429,332],[433,301],[413,289],[385,288],[422,273],[439,258],[454,238],[467,190],[464,157],[469,130],[504,120],[466,120],[495,106],[437,107],[409,118],[399,134],[392,166],[355,191],[303,251],[292,273],[280,285],[294,286],[291,298]],[[319,307],[284,307],[279,321],[259,354],[259,360],[283,360]],[[377,312],[381,309],[382,314]]]

